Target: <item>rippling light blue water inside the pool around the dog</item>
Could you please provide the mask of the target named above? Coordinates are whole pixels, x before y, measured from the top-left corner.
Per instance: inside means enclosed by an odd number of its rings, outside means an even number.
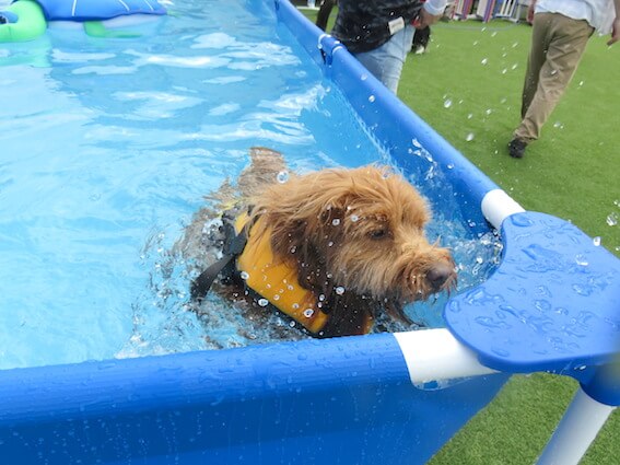
[[[262,2],[223,4],[169,4],[128,26],[139,38],[0,44],[0,368],[264,341],[225,302],[210,301],[221,321],[187,311],[171,251],[203,197],[251,146],[300,172],[388,160]],[[429,235],[454,248],[463,290],[501,246],[453,207]],[[410,313],[441,325],[445,299]]]

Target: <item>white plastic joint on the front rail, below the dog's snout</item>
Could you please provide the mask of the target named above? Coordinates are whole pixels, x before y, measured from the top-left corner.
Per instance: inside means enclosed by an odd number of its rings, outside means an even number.
[[[395,333],[413,384],[496,373],[478,361],[448,329]]]

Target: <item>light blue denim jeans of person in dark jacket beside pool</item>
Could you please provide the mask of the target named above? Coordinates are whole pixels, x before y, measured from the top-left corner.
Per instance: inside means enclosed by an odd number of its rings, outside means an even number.
[[[395,94],[398,91],[402,65],[411,50],[414,32],[416,28],[408,24],[381,47],[355,54],[355,58]]]

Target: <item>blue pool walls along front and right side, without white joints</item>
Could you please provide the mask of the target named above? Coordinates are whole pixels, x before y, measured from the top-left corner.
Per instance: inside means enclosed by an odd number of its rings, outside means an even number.
[[[399,167],[454,165],[446,193],[481,216],[481,198],[495,188],[484,175],[374,78],[362,81],[367,73],[342,49],[324,61],[318,31],[289,2],[248,4],[276,10]],[[432,161],[411,154],[413,139]],[[423,464],[506,380],[494,374],[421,390],[390,334],[7,370],[0,457],[2,464]]]

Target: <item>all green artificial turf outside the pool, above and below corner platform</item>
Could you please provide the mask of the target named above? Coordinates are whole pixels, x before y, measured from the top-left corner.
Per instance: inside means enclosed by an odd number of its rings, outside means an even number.
[[[429,53],[409,56],[399,97],[525,209],[569,220],[620,256],[620,44],[590,39],[540,139],[514,160],[506,144],[519,123],[530,34],[501,20],[438,23]],[[430,465],[535,463],[576,388],[563,376],[513,376]],[[582,465],[620,464],[619,438],[616,410]]]

